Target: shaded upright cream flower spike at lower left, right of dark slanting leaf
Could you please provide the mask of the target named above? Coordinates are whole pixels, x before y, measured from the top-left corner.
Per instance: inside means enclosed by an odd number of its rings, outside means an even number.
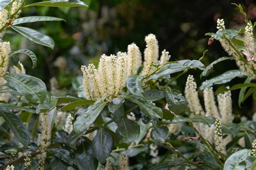
[[[39,136],[40,151],[43,153],[45,149],[51,144],[51,124],[47,114],[42,113],[41,115],[41,134]]]

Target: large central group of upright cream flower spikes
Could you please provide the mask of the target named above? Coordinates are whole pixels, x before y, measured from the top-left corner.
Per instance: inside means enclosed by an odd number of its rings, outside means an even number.
[[[154,34],[146,36],[145,41],[144,63],[139,47],[132,43],[127,47],[127,52],[109,56],[103,54],[97,69],[93,64],[81,66],[85,98],[97,100],[105,95],[117,96],[125,87],[127,77],[136,74],[139,66],[143,64],[142,75],[147,75],[156,69],[152,64],[164,65],[169,61],[169,52],[165,50],[158,61],[159,47]]]

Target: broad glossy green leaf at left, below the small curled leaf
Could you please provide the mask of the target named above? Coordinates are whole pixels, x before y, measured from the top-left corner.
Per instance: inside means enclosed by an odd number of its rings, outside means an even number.
[[[9,88],[16,90],[26,100],[32,103],[44,102],[47,90],[42,80],[26,74],[7,74],[4,79],[8,81]]]

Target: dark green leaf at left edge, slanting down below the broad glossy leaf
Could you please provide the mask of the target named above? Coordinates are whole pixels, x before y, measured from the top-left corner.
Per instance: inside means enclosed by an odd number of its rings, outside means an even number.
[[[30,143],[30,135],[21,119],[7,109],[0,107],[0,115],[4,118],[6,124],[15,134],[16,138],[26,147]]]

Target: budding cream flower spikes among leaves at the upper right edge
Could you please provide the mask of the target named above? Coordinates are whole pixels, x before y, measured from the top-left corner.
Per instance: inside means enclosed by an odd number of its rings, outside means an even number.
[[[223,19],[217,20],[217,29],[220,31],[225,30]],[[250,23],[248,23],[247,26],[245,27],[244,39],[245,39],[245,46],[248,52],[242,52],[242,53],[239,52],[239,54],[231,46],[230,43],[232,42],[228,42],[224,38],[219,39],[219,41],[223,49],[228,53],[228,55],[234,56],[235,62],[237,63],[237,66],[242,70],[242,72],[256,79],[256,75],[255,75],[256,65],[254,63],[255,50],[254,50],[253,27]],[[245,55],[247,62],[241,60],[240,56],[243,56],[243,55]]]

